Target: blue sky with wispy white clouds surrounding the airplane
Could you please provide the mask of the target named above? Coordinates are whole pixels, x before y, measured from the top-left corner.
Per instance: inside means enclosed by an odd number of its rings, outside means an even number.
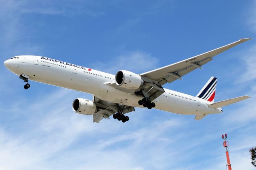
[[[0,0],[0,169],[216,170],[226,168],[221,134],[230,141],[233,170],[254,169],[256,145],[256,2],[215,0]],[[196,95],[218,78],[215,101],[252,98],[224,113],[176,115],[136,109],[130,121],[92,123],[72,111],[90,94],[30,82],[24,90],[3,62],[42,55],[115,74],[143,73],[240,38],[230,49],[171,84]]]

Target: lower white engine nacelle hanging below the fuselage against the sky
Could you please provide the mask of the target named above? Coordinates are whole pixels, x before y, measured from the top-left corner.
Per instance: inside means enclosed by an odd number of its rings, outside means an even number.
[[[83,115],[93,115],[97,111],[97,107],[93,101],[82,98],[74,99],[72,109],[74,112]]]

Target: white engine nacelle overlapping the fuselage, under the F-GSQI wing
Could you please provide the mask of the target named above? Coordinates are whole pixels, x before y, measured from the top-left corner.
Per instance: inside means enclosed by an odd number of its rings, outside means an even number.
[[[126,70],[120,70],[116,73],[116,85],[126,89],[138,89],[144,81],[138,74]]]

